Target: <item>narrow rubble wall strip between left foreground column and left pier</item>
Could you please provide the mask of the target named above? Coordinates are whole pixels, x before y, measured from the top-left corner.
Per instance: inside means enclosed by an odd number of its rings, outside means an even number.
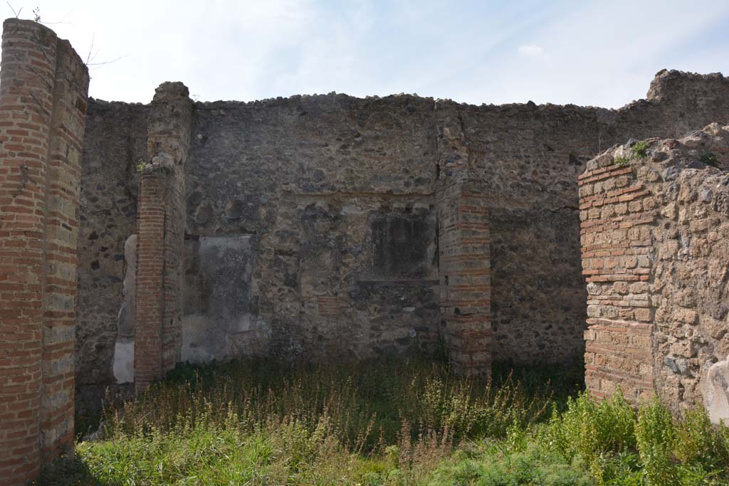
[[[81,171],[76,336],[77,407],[82,410],[99,407],[105,389],[114,384],[115,342],[133,339],[134,308],[121,310],[123,281],[134,274],[136,263],[125,258],[125,242],[136,233],[136,165],[147,160],[148,117],[149,106],[142,104],[89,102]]]

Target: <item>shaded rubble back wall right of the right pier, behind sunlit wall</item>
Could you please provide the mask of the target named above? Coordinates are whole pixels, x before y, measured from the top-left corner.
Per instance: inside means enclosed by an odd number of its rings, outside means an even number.
[[[607,110],[547,103],[455,106],[461,157],[486,187],[491,224],[491,325],[498,361],[582,355],[577,176],[628,138],[681,137],[729,120],[721,74],[660,71],[647,99]]]

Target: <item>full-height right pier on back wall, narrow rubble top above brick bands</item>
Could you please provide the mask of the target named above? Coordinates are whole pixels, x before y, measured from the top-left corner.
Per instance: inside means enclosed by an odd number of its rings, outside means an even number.
[[[469,178],[469,149],[458,114],[444,111],[438,136],[436,203],[440,336],[456,372],[491,372],[491,235],[487,191]]]

